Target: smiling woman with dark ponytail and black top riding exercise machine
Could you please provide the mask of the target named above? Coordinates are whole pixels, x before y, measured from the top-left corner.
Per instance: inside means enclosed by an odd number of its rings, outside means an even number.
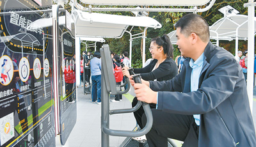
[[[140,74],[145,81],[166,81],[175,77],[178,74],[178,69],[173,60],[173,46],[170,38],[167,35],[157,36],[152,38],[149,51],[152,56],[152,61],[144,68],[134,68],[135,74]],[[128,67],[123,68],[123,74],[129,77]],[[132,107],[138,103],[135,97],[132,101]],[[156,104],[150,104],[151,108],[156,108]],[[134,117],[140,128],[143,128],[141,117],[144,113],[143,107],[134,112]],[[145,135],[140,137],[132,137],[137,141],[146,139]]]

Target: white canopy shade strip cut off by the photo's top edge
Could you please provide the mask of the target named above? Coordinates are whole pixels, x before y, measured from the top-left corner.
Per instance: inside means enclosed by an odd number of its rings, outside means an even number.
[[[122,5],[122,6],[202,6],[210,0],[81,0],[84,4]]]

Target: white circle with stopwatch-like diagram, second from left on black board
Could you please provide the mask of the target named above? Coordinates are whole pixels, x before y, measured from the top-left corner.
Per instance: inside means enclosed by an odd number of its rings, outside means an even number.
[[[22,57],[19,63],[19,76],[22,82],[28,81],[29,71],[30,71],[29,69],[30,69],[30,66],[29,66],[28,59],[26,57]]]

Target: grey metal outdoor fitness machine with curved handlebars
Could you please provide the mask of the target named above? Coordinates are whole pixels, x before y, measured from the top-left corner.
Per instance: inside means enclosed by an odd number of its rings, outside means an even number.
[[[116,94],[123,94],[125,91],[118,91],[116,90],[116,82],[115,77],[113,74],[113,63],[111,61],[109,45],[103,45],[100,49],[100,56],[101,56],[101,98],[102,98],[102,106],[101,106],[101,146],[109,146],[109,135],[115,136],[124,136],[124,137],[138,137],[141,135],[147,134],[153,124],[153,116],[151,109],[147,103],[142,103],[138,101],[138,104],[131,108],[131,109],[116,109],[109,111],[109,94],[116,95]],[[134,82],[141,82],[140,75],[134,75]],[[129,84],[130,85],[130,84]],[[128,85],[128,86],[129,86]],[[119,88],[120,89],[120,88]],[[129,89],[129,88],[127,88]],[[134,112],[136,111],[141,104],[143,105],[143,109],[145,110],[145,114],[147,117],[147,124],[142,130],[139,131],[127,131],[127,130],[111,130],[109,128],[109,115],[110,114],[120,114],[120,113],[127,113],[127,112]]]

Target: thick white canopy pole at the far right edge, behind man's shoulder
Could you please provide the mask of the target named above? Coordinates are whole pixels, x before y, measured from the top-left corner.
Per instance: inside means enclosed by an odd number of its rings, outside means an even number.
[[[253,70],[254,70],[254,13],[255,13],[255,3],[253,0],[248,0],[248,68],[247,68],[247,93],[250,102],[250,109],[252,112],[253,108]]]

